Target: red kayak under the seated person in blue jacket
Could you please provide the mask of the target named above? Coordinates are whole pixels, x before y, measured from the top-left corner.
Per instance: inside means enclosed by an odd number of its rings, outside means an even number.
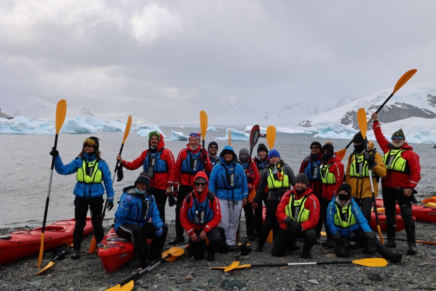
[[[152,240],[147,239],[148,245],[151,242]],[[98,244],[97,254],[100,257],[103,268],[108,273],[118,270],[132,259],[133,256],[136,257],[133,242],[117,236],[113,228],[105,235],[103,241]]]

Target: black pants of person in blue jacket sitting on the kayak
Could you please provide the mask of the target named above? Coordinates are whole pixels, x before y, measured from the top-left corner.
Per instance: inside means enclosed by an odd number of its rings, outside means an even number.
[[[153,223],[146,223],[142,227],[137,224],[125,223],[118,227],[115,233],[118,236],[133,242],[138,255],[138,261],[141,264],[146,259],[160,258],[162,248],[167,239],[168,226],[162,226],[162,230],[162,235],[158,237],[156,235],[156,227]],[[153,240],[150,245],[150,250],[147,246],[147,239]]]

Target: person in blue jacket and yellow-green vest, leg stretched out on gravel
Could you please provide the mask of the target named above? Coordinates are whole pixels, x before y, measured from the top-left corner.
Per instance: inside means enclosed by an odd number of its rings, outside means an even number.
[[[383,258],[396,264],[401,262],[402,255],[392,252],[388,247],[375,239],[375,235],[368,225],[368,221],[351,197],[351,186],[343,184],[338,188],[338,195],[327,208],[327,226],[335,244],[335,254],[340,258],[347,258],[350,254],[350,241],[363,245],[365,254],[379,253]]]

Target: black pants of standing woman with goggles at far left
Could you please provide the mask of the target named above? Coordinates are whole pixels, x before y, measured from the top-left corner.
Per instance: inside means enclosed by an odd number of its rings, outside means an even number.
[[[95,242],[99,243],[103,240],[104,230],[103,230],[103,197],[95,198],[81,198],[76,196],[74,199],[74,219],[76,224],[74,226],[73,237],[75,239],[75,245],[79,243],[83,236],[83,229],[86,226],[86,215],[88,214],[88,209],[91,210],[91,222],[93,224]]]

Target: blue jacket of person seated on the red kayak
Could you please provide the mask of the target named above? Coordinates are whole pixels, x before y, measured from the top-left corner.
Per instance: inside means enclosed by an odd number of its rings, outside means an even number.
[[[160,219],[159,210],[157,210],[155,197],[148,193],[136,193],[135,186],[128,186],[123,189],[115,218],[115,230],[125,223],[137,224],[142,227],[150,218],[156,229],[164,225]]]

